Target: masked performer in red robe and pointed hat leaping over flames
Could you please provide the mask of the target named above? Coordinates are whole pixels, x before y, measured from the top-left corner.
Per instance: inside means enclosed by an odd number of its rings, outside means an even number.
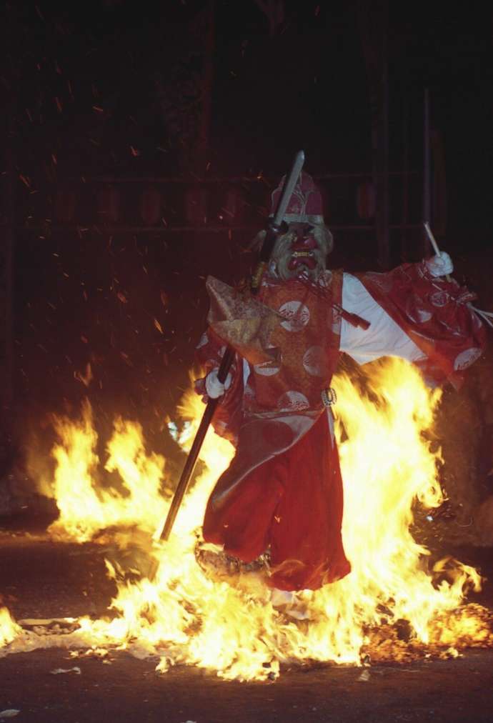
[[[358,364],[400,356],[458,385],[485,331],[468,306],[473,296],[443,278],[453,270],[445,252],[389,273],[327,270],[333,238],[304,172],[284,221],[258,296],[207,280],[209,327],[197,347],[205,377],[196,389],[205,400],[221,397],[215,431],[236,447],[207,503],[205,542],[243,562],[267,555],[269,584],[295,591],[351,570],[330,408],[340,352]],[[236,359],[223,385],[226,344]]]

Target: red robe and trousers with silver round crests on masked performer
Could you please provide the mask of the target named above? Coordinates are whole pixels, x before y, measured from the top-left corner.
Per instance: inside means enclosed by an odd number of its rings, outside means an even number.
[[[401,269],[400,275],[395,270],[360,278],[411,335],[409,309],[416,278],[410,268]],[[421,296],[426,288],[428,293],[436,291],[434,281],[421,277]],[[215,431],[233,442],[236,455],[207,502],[204,539],[223,545],[244,562],[270,549],[270,583],[285,590],[317,589],[351,570],[341,539],[338,450],[329,430],[331,413],[321,397],[338,362],[341,320],[335,309],[340,308],[342,278],[340,272],[327,272],[324,286],[318,287],[268,279],[262,285],[262,311],[257,304],[251,308],[249,299],[225,284],[207,281],[210,328],[197,348],[197,358],[207,374],[218,367],[226,343],[239,354],[231,388],[214,419]],[[268,317],[266,309],[275,313]],[[477,332],[476,322],[471,324]],[[431,330],[426,329],[428,335]],[[422,323],[413,339],[420,348],[425,343],[425,353],[450,376],[453,363],[447,357],[446,328],[441,325],[434,333],[440,335],[440,354],[434,354],[433,344],[426,341]],[[474,343],[483,342],[480,338]],[[451,343],[456,356],[458,341]],[[249,362],[247,376],[243,359]],[[204,393],[203,380],[197,391]]]

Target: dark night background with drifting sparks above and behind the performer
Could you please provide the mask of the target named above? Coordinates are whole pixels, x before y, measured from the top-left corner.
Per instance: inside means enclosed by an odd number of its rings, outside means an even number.
[[[489,288],[486,5],[39,0],[2,3],[1,27],[3,425],[20,456],[47,415],[78,414],[85,395],[101,429],[124,414],[163,447],[205,325],[204,279],[249,272],[246,245],[299,148],[324,194],[331,263],[382,265],[357,199],[385,59],[387,262],[424,249],[428,88],[432,225],[459,275]]]

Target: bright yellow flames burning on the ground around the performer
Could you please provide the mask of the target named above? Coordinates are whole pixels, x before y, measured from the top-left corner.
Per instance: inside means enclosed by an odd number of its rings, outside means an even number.
[[[233,455],[231,445],[210,430],[201,453],[204,471],[185,497],[171,539],[150,543],[159,563],[153,581],[123,580],[107,562],[108,573],[119,581],[113,619],[81,618],[78,629],[58,644],[157,654],[160,671],[186,662],[239,680],[276,677],[286,662],[361,664],[366,655],[406,659],[493,645],[488,612],[477,605],[460,607],[468,589],[480,588],[479,575],[455,560],[428,571],[429,552],[410,531],[413,505],[434,508],[443,500],[440,451],[432,453],[423,434],[432,427],[440,390],[427,389],[416,370],[396,359],[368,368],[364,391],[345,374],[333,380],[340,400],[343,539],[352,572],[299,594],[294,614],[301,611],[303,620],[275,609],[270,589],[253,573],[230,583],[213,581],[197,565],[194,548],[205,503]],[[199,398],[187,393],[179,414],[194,422],[179,437],[185,449],[202,411]],[[163,458],[145,451],[139,425],[117,419],[107,445],[105,468],[118,472],[121,493],[97,484],[98,440],[89,403],[80,421],[57,419],[56,432],[53,489],[60,517],[51,534],[83,542],[110,527],[137,526],[149,539],[158,537],[170,501],[160,488],[171,485]],[[34,641],[33,635],[0,611],[5,651],[48,644],[46,637]]]

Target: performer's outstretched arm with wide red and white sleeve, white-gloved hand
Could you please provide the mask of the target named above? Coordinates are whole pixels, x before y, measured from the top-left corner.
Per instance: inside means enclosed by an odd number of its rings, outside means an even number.
[[[439,252],[387,273],[359,274],[356,281],[345,275],[343,305],[346,302],[351,310],[356,304],[356,313],[372,325],[366,335],[358,329],[343,330],[343,351],[360,364],[385,355],[402,356],[419,364],[434,382],[448,379],[460,386],[463,369],[483,353],[486,329],[470,304],[476,295],[449,281],[451,270],[450,257]]]

